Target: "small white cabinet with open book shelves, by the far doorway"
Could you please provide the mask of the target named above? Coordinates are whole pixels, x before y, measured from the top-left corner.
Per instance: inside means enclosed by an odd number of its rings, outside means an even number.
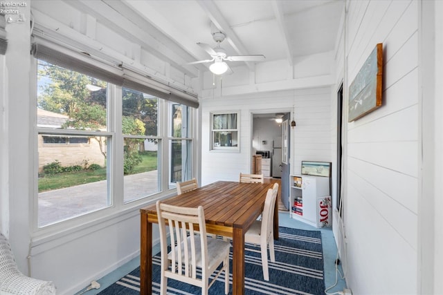
[[[330,178],[311,175],[291,175],[289,182],[289,212],[291,218],[317,226],[317,198],[330,196]]]

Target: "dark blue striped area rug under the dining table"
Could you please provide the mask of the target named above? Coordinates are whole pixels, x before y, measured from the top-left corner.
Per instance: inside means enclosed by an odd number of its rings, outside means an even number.
[[[260,245],[245,245],[245,294],[293,295],[325,294],[323,251],[320,231],[305,231],[280,227],[280,239],[275,241],[275,263],[269,261],[269,281],[263,280]],[[160,294],[160,255],[152,258],[152,294]],[[232,294],[232,253],[230,255],[230,294]],[[136,295],[140,292],[140,269],[137,267],[100,295]],[[194,287],[168,280],[168,294],[201,294]],[[209,294],[224,294],[224,274],[209,288]]]

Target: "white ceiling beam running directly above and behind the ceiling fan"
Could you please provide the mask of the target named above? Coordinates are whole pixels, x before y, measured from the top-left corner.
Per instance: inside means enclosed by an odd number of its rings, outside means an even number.
[[[226,35],[226,40],[229,42],[237,53],[237,55],[249,55],[246,47],[242,41],[237,37],[233,29],[230,28],[228,21],[221,15],[213,0],[197,0],[201,8],[203,8],[214,25]],[[249,70],[255,70],[255,64],[251,61],[244,61]]]

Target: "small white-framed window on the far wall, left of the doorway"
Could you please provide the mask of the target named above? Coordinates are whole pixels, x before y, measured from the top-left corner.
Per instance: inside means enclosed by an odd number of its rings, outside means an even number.
[[[211,149],[238,150],[239,113],[211,113]]]

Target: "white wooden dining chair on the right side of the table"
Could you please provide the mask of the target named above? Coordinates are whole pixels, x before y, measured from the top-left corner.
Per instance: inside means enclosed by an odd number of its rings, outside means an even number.
[[[264,280],[269,280],[268,245],[271,261],[275,262],[273,217],[277,193],[278,183],[275,183],[273,185],[273,188],[268,189],[268,192],[266,194],[266,200],[264,201],[264,208],[262,212],[262,219],[255,220],[253,225],[251,225],[251,227],[248,229],[248,231],[246,231],[246,234],[244,235],[244,242],[260,245]]]

